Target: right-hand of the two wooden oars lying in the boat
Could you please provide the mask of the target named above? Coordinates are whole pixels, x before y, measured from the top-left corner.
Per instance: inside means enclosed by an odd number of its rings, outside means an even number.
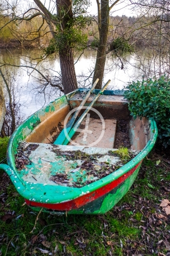
[[[73,135],[76,132],[76,129],[80,126],[81,122],[83,121],[83,119],[85,118],[85,115],[89,112],[89,110],[92,108],[93,104],[95,103],[95,101],[97,101],[99,99],[99,97],[101,96],[102,92],[106,89],[106,87],[108,86],[108,84],[110,83],[111,80],[108,80],[108,82],[102,87],[102,89],[98,92],[98,94],[94,97],[93,101],[90,103],[90,105],[87,107],[87,109],[85,110],[85,112],[81,115],[81,117],[78,119],[78,121],[76,122],[76,124],[74,125],[74,127],[70,130],[70,132],[68,133],[68,136],[65,138],[64,142],[62,145],[67,145],[69,140],[73,137]]]

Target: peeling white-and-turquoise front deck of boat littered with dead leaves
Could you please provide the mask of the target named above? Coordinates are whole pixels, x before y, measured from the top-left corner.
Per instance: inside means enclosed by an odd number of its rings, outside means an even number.
[[[17,149],[16,167],[25,182],[80,188],[115,172],[139,153],[128,150],[130,158],[124,160],[117,151],[23,142]]]

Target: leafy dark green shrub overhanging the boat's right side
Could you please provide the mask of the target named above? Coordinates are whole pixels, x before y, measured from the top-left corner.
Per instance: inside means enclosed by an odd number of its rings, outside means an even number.
[[[170,145],[170,79],[165,75],[159,79],[130,82],[125,92],[128,108],[136,118],[153,118],[158,127],[162,145]]]

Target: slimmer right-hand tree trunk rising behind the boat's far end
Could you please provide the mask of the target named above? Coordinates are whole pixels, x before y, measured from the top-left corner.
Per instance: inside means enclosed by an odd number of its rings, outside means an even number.
[[[93,83],[97,78],[99,82],[96,85],[96,89],[102,88],[102,79],[104,75],[104,66],[106,62],[106,44],[109,28],[109,0],[101,0],[101,31],[100,31],[100,42],[96,57],[96,64],[93,75]]]

